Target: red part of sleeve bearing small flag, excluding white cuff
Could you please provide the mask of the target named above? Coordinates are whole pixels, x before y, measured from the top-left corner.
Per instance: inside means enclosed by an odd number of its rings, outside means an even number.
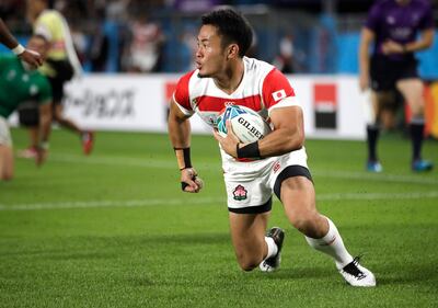
[[[289,80],[278,69],[273,68],[263,81],[263,100],[266,109],[289,96],[295,96],[295,91]]]

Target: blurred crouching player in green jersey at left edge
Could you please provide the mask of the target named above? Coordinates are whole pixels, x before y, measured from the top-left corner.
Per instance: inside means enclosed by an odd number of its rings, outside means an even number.
[[[27,48],[45,56],[47,42],[42,36],[33,36]],[[26,66],[16,57],[0,57],[0,180],[13,178],[12,138],[7,119],[20,103],[35,100],[39,104],[38,146],[35,159],[44,160],[50,130],[51,89],[46,77]]]

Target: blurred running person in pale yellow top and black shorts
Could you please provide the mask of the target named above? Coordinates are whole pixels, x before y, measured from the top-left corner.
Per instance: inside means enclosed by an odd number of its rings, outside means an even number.
[[[61,13],[49,10],[48,0],[28,0],[27,18],[33,24],[34,34],[45,37],[49,44],[47,58],[39,70],[48,78],[51,85],[53,119],[77,133],[81,138],[83,152],[89,155],[93,148],[93,133],[79,128],[76,123],[66,118],[62,114],[64,84],[73,76],[80,77],[82,75],[69,26]],[[27,110],[26,112],[31,111]],[[35,153],[36,137],[36,129],[32,128],[32,145],[22,152],[22,156],[32,157]]]

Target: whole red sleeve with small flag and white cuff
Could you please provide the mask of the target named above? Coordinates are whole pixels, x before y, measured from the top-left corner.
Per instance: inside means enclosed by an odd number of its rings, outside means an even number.
[[[276,68],[263,81],[262,93],[265,107],[269,113],[275,107],[299,105],[289,80]]]

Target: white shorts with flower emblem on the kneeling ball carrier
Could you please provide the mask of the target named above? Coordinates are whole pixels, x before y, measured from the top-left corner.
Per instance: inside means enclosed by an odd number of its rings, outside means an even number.
[[[279,157],[253,162],[223,162],[228,209],[233,213],[265,213],[272,208],[273,192],[279,198],[281,182],[291,176],[312,180],[302,148]]]

